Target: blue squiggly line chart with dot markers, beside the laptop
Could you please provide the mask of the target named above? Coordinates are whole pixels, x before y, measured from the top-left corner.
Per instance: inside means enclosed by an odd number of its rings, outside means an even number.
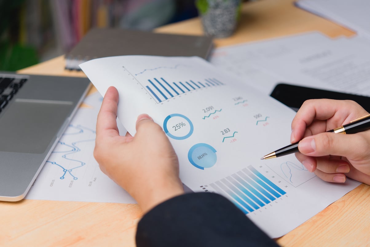
[[[70,129],[75,129],[76,131],[74,132],[68,132],[68,130]],[[84,127],[84,126],[81,126],[81,125],[69,125],[68,126],[68,129],[66,131],[66,133],[63,134],[63,136],[70,136],[70,135],[78,135],[78,134],[82,134],[84,132],[87,132],[87,133],[92,133],[92,134],[95,134],[96,132],[90,128],[87,128],[87,127]],[[62,136],[62,138],[63,138]],[[67,160],[70,164],[74,164],[76,163],[76,165],[74,165],[73,168],[70,168],[70,169],[66,169],[65,168],[65,165],[63,164],[60,164],[60,163],[57,163],[55,161],[51,161],[51,160],[47,160],[46,162],[47,163],[50,163],[52,165],[56,165],[56,166],[59,166],[61,169],[63,169],[63,175],[60,176],[59,178],[60,179],[64,179],[65,178],[65,175],[67,174],[67,172],[69,173],[69,175],[71,177],[73,177],[73,180],[77,180],[78,177],[73,175],[73,170],[75,169],[78,169],[78,168],[81,168],[83,167],[84,165],[86,165],[86,163],[83,161],[83,160],[78,160],[78,159],[73,159],[73,158],[69,158],[68,156],[72,156],[72,155],[75,155],[76,153],[78,152],[81,152],[81,149],[80,149],[80,144],[83,143],[83,142],[93,142],[95,141],[95,138],[93,139],[84,139],[84,140],[76,140],[74,142],[71,142],[69,144],[63,142],[63,141],[58,141],[58,145],[59,147],[66,147],[67,149],[66,150],[61,150],[61,151],[53,151],[52,153],[61,153],[62,156],[61,158],[63,158],[64,160]]]

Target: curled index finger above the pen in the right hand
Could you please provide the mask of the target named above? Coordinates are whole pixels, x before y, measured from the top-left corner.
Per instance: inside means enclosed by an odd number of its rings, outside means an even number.
[[[362,116],[364,113],[361,112],[366,111],[354,101],[309,99],[302,104],[292,121],[291,142],[301,140],[306,129],[310,129],[313,135],[325,132]],[[315,122],[320,125],[315,126]]]

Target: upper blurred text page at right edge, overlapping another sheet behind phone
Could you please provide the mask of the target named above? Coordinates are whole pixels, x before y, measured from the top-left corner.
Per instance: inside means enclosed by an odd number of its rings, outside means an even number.
[[[370,95],[370,42],[342,38],[257,61],[293,84]]]

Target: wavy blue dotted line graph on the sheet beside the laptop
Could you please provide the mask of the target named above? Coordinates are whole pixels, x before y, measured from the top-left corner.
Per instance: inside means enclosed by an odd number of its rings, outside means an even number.
[[[71,127],[71,128],[75,128],[75,129],[78,129],[78,130],[79,130],[79,131],[78,131],[78,133],[84,133],[84,131],[89,131],[89,132],[92,132],[92,133],[96,133],[94,130],[89,129],[89,128],[86,128],[86,127],[83,127],[83,126],[81,126],[81,125],[77,125],[77,126],[70,125],[70,127]],[[73,134],[76,134],[76,133],[73,133]],[[63,135],[64,135],[64,134],[63,134]],[[68,133],[67,133],[66,135],[68,135]],[[48,160],[48,161],[47,161],[48,163],[51,163],[51,164],[53,164],[53,165],[57,165],[57,166],[59,166],[60,168],[62,168],[62,169],[63,169],[64,174],[60,177],[60,179],[64,179],[64,178],[65,178],[65,174],[66,174],[67,172],[68,172],[68,173],[73,177],[73,179],[74,179],[74,180],[77,180],[77,179],[78,179],[78,177],[74,176],[74,175],[72,174],[72,172],[73,172],[73,170],[74,170],[74,169],[77,169],[77,168],[80,168],[80,167],[82,167],[82,166],[86,165],[86,163],[85,163],[85,162],[83,162],[82,160],[77,160],[77,159],[71,159],[71,158],[68,158],[67,156],[69,156],[69,155],[73,155],[73,154],[75,154],[75,153],[77,153],[77,152],[80,152],[80,151],[81,151],[81,149],[78,147],[78,144],[79,144],[79,143],[83,143],[83,142],[91,142],[91,141],[95,141],[95,139],[79,140],[79,141],[76,141],[76,142],[72,142],[72,143],[70,143],[70,144],[67,144],[67,143],[65,143],[65,142],[61,142],[61,141],[59,141],[59,142],[58,142],[60,145],[67,146],[67,147],[68,147],[68,148],[70,148],[70,149],[68,149],[68,150],[63,150],[63,151],[53,151],[53,153],[64,153],[64,154],[61,156],[62,158],[66,159],[66,160],[69,160],[70,162],[77,162],[77,163],[79,164],[79,165],[75,166],[74,168],[71,168],[71,169],[65,169],[62,165],[58,164],[57,162],[49,161],[49,160]]]

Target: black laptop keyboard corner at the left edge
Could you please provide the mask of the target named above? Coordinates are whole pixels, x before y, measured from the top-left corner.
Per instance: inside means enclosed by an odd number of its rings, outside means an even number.
[[[24,78],[0,77],[0,112],[26,81]]]

